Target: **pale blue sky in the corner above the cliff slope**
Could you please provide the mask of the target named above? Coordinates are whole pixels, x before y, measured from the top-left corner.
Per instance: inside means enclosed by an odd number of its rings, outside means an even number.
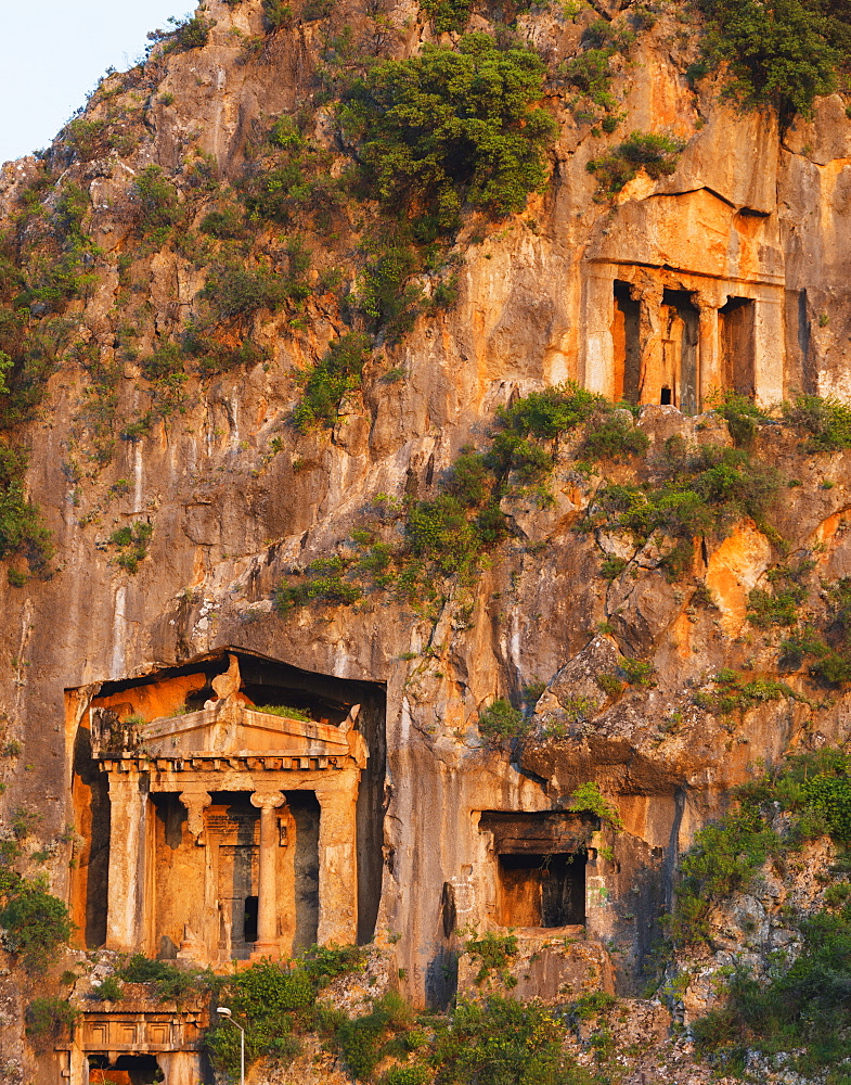
[[[131,67],[145,35],[194,0],[0,3],[0,163],[47,146],[111,65]]]

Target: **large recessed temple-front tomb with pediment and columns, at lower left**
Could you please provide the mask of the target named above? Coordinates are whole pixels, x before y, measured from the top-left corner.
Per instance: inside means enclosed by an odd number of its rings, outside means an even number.
[[[81,946],[212,963],[248,956],[258,923],[282,953],[371,941],[382,682],[222,649],[66,690],[66,706],[78,840],[69,905]],[[269,894],[265,912],[260,901],[263,818],[274,916]]]

